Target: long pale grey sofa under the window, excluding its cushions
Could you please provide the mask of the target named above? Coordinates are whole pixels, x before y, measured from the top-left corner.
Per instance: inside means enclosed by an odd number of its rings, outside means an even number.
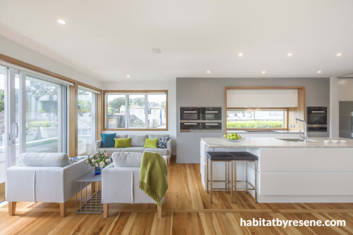
[[[130,148],[101,148],[102,141],[96,141],[95,148],[96,150],[106,151],[108,155],[112,155],[115,152],[135,152],[135,153],[143,153],[153,152],[160,153],[160,155],[165,156],[167,158],[167,164],[169,165],[169,161],[172,155],[172,140],[170,139],[167,142],[167,148],[145,148],[145,139],[157,139],[161,136],[169,137],[169,134],[116,134],[116,138],[131,138],[131,147]]]

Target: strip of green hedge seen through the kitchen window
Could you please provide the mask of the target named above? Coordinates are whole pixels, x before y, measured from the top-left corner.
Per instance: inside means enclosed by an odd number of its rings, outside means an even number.
[[[227,128],[253,128],[253,129],[261,129],[261,128],[284,128],[283,121],[272,121],[272,120],[251,120],[251,121],[232,121],[227,122]]]

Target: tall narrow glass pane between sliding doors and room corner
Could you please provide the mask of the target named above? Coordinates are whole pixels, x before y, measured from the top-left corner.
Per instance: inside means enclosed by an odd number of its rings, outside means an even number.
[[[78,155],[94,151],[95,113],[95,94],[78,89]]]

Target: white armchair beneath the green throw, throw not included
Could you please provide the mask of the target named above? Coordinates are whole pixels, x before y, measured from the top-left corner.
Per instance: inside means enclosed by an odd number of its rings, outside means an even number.
[[[139,188],[140,165],[143,153],[116,152],[113,163],[102,170],[103,216],[108,217],[110,203],[155,203]],[[164,156],[164,160],[167,158]],[[158,217],[162,208],[157,206]]]

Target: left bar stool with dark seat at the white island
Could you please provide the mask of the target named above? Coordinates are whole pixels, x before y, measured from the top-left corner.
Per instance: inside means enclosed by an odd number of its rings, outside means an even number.
[[[230,189],[230,197],[232,198],[233,196],[233,188],[234,188],[234,182],[233,182],[233,163],[234,163],[234,156],[232,154],[229,154],[227,152],[207,152],[207,192],[208,192],[208,184],[210,184],[210,203],[212,203],[212,191],[213,189],[221,189],[225,191],[229,191]],[[208,161],[210,160],[210,180],[208,180]],[[225,163],[225,188],[213,188],[213,182],[223,182],[223,180],[213,180],[213,162],[224,162]],[[232,165],[231,167],[231,174],[232,174],[232,179],[229,180],[229,163]]]

